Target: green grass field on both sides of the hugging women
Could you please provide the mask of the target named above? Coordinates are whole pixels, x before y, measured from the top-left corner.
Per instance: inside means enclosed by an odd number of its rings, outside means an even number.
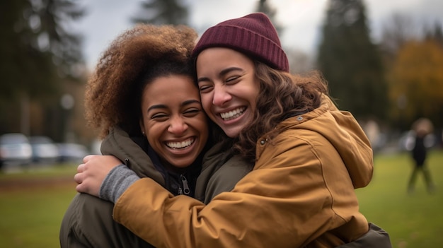
[[[371,184],[357,189],[362,213],[389,232],[393,247],[442,247],[443,151],[430,153],[428,163],[437,186],[434,194],[427,193],[422,177],[415,192],[407,193],[412,169],[407,153],[377,155]],[[76,194],[69,181],[75,170],[58,166],[0,174],[1,247],[59,247],[60,221]]]

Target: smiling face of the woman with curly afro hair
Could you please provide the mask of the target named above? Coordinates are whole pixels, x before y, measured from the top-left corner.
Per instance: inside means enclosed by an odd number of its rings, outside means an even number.
[[[208,126],[188,76],[161,76],[144,88],[142,132],[168,170],[191,165],[205,147]]]

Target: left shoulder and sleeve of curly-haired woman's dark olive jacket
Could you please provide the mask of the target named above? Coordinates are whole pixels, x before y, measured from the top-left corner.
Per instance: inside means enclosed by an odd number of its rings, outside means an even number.
[[[142,139],[142,137],[140,137]],[[141,143],[141,142],[140,142]],[[139,177],[151,177],[162,187],[165,178],[146,151],[125,131],[113,129],[102,143],[103,155],[115,155]],[[114,204],[88,194],[76,194],[59,232],[60,247],[153,247],[113,220]]]

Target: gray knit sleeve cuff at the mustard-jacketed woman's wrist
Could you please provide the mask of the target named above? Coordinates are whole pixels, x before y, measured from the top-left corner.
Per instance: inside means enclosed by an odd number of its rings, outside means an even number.
[[[100,186],[100,199],[115,203],[120,196],[140,177],[126,165],[118,165],[110,170]]]

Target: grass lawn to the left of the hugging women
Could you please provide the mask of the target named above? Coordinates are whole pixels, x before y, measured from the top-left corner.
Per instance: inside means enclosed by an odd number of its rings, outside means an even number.
[[[57,166],[0,174],[0,247],[60,247],[59,225],[76,194],[75,172],[74,166]]]

